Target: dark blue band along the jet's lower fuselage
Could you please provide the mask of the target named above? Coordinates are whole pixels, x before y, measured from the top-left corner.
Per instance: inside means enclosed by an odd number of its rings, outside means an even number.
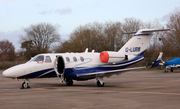
[[[129,67],[132,64],[135,64],[135,63],[143,60],[144,59],[143,56],[142,56],[143,53],[144,53],[144,51],[142,53],[140,53],[138,56],[136,56],[135,58],[131,59],[131,60],[124,61],[124,62],[119,62],[117,64],[103,64],[101,66],[89,67],[89,68],[87,68],[87,67],[85,67],[85,68],[78,67],[78,69],[66,68],[65,73],[64,73],[64,77],[65,78],[77,78],[77,75],[81,75],[81,74],[88,74],[88,73],[94,73],[94,72],[103,72],[103,71],[109,71],[109,70],[124,69],[124,68]],[[123,65],[123,64],[125,64],[125,65]],[[105,66],[108,66],[108,67],[105,67]],[[21,76],[21,77],[18,77],[18,78],[19,79],[25,79],[25,78],[49,78],[49,77],[57,77],[57,75],[56,75],[55,71],[53,70],[53,68],[40,70],[40,71],[33,72],[33,73],[30,73],[30,74],[27,74],[27,75],[24,75],[24,76]]]

